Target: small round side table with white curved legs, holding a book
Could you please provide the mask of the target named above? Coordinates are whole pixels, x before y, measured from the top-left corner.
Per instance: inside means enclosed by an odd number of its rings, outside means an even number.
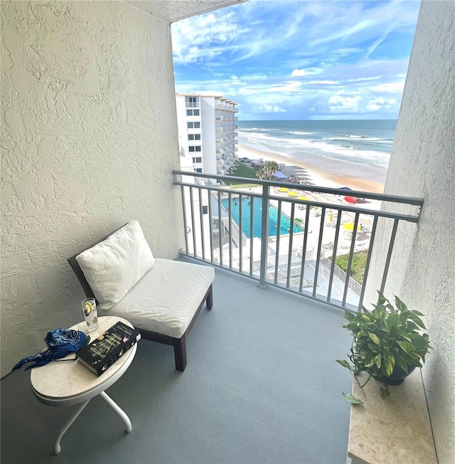
[[[123,322],[129,327],[133,327],[127,320],[122,317],[99,317],[100,325],[97,330],[88,332],[87,324],[80,322],[70,327],[71,329],[80,330],[90,335],[91,341],[95,340],[100,334],[112,327],[116,322]],[[77,411],[65,423],[57,440],[55,441],[54,452],[60,453],[60,440],[65,432],[70,428],[77,416],[87,406],[89,401],[95,396],[101,396],[107,404],[122,418],[127,433],[132,431],[131,421],[127,414],[122,411],[117,404],[105,393],[105,389],[114,384],[128,369],[136,354],[137,343],[130,348],[122,357],[117,359],[112,366],[103,372],[99,377],[92,374],[88,369],[77,361],[70,361],[75,356],[74,353],[68,354],[68,362],[49,362],[45,366],[35,367],[31,370],[30,381],[33,393],[41,403],[48,406],[71,406],[80,404]]]

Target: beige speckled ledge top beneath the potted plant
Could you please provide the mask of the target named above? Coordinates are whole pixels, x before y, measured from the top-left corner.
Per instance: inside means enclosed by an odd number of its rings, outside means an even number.
[[[366,374],[360,379],[366,380]],[[389,388],[392,394],[382,399],[380,383],[370,381],[364,387],[365,404],[351,406],[348,462],[437,464],[420,369],[403,384]],[[363,399],[355,382],[353,396]]]

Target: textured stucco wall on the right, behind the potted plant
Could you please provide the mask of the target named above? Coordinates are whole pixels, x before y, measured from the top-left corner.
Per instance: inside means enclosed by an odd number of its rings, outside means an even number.
[[[426,315],[433,350],[422,372],[441,464],[455,463],[454,18],[455,1],[422,2],[385,184],[424,198],[419,223],[399,228],[385,293]],[[389,236],[378,229],[378,248]],[[380,270],[373,259],[372,282]]]

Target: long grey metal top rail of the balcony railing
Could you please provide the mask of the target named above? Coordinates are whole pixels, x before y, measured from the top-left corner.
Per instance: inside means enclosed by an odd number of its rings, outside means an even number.
[[[365,199],[380,200],[380,201],[392,201],[393,203],[410,204],[414,206],[422,206],[424,204],[424,199],[414,198],[412,196],[375,194],[375,193],[367,192],[367,191],[333,189],[331,187],[310,186],[310,185],[294,184],[292,182],[282,182],[282,181],[266,181],[262,179],[252,179],[250,177],[220,176],[219,174],[204,174],[202,172],[175,170],[173,171],[173,174],[174,176],[176,175],[193,176],[193,177],[203,177],[205,179],[217,179],[221,181],[228,181],[229,183],[231,183],[232,181],[235,181],[235,182],[238,182],[239,184],[257,184],[257,185],[262,185],[262,186],[287,187],[289,189],[315,191],[316,193],[321,193],[321,194],[354,196],[355,198],[365,198]],[[181,182],[174,180],[174,184],[181,184]]]

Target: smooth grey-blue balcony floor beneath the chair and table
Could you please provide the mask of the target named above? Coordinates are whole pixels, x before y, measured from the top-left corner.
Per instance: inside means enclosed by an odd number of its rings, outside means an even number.
[[[134,362],[92,399],[53,455],[77,406],[39,403],[25,371],[1,380],[1,463],[346,463],[350,405],[343,312],[216,270],[214,305],[187,341],[188,367],[172,347],[141,340]]]

